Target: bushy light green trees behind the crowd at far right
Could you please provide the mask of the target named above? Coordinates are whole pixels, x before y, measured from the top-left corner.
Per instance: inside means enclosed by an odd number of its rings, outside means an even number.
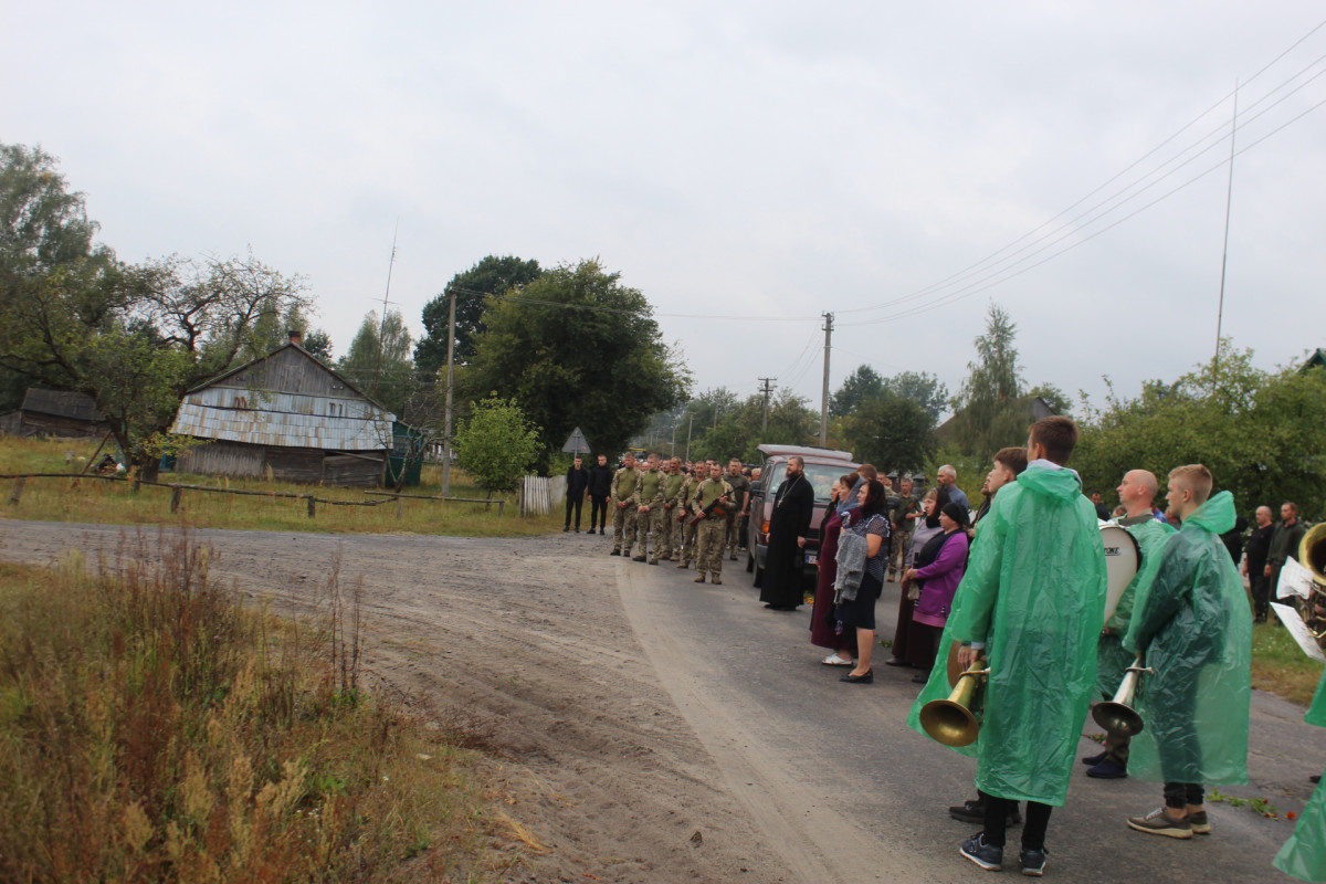
[[[1205,464],[1216,489],[1233,493],[1252,520],[1261,504],[1284,501],[1306,518],[1326,512],[1326,371],[1296,367],[1266,372],[1252,351],[1224,346],[1219,362],[1175,383],[1147,382],[1136,399],[1111,394],[1103,410],[1079,419],[1082,440],[1071,465],[1089,488],[1114,488],[1130,469],[1164,477],[1183,464]]]

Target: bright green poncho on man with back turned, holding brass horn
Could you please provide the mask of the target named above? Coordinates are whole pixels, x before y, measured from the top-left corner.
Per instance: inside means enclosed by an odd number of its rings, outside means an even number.
[[[976,786],[998,798],[1063,804],[1091,691],[1105,615],[1105,547],[1095,508],[1069,469],[1028,467],[981,520],[941,648],[984,641],[991,665]],[[920,709],[949,694],[940,653]]]

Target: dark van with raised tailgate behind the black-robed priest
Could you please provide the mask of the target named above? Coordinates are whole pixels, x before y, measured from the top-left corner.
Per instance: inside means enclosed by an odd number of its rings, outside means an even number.
[[[855,472],[861,465],[851,459],[850,451],[812,448],[802,445],[760,445],[762,463],[760,481],[751,484],[751,525],[747,535],[747,571],[754,573],[754,584],[764,583],[764,565],[769,551],[769,520],[773,517],[773,498],[788,476],[788,460],[801,457],[806,464],[806,478],[815,489],[815,510],[810,517],[810,533],[806,537],[805,575],[812,586],[819,570],[819,522],[829,506],[829,492],[833,484],[845,473]]]

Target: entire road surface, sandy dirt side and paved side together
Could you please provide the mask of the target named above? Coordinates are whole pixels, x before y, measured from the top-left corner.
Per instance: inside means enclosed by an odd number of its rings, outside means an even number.
[[[973,827],[943,812],[971,797],[972,763],[903,726],[911,673],[876,667],[874,685],[838,684],[806,641],[806,614],[764,611],[739,563],[713,587],[577,534],[198,538],[219,551],[216,574],[280,604],[310,603],[337,569],[342,586],[362,583],[369,671],[505,750],[508,810],[550,848],[508,880],[984,880],[957,856]],[[121,542],[110,526],[0,521],[11,561]],[[1254,782],[1225,791],[1299,810],[1326,754],[1301,717],[1257,693]],[[1290,824],[1212,804],[1209,839],[1130,835],[1123,816],[1155,807],[1159,786],[1083,770],[1052,820],[1052,875],[1292,880],[1269,865]]]

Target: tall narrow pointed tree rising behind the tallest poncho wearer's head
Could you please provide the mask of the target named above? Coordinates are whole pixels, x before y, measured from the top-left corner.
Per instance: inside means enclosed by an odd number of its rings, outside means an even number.
[[[987,455],[1006,445],[1025,444],[1030,424],[1022,396],[1021,366],[1013,339],[1017,326],[998,305],[991,304],[985,334],[976,338],[971,374],[953,398],[953,429],[957,448],[967,455]]]

